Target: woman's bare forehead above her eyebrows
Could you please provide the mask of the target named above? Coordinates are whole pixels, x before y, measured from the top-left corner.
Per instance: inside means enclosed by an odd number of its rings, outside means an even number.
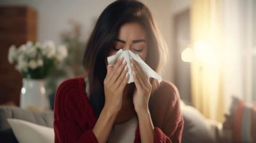
[[[129,22],[120,27],[118,31],[118,38],[122,40],[145,39],[145,29],[138,22]]]

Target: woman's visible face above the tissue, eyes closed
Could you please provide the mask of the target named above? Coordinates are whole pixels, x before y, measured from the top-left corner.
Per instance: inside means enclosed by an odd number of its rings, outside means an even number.
[[[138,54],[143,61],[147,57],[147,39],[145,29],[137,22],[129,22],[120,27],[114,47],[109,50],[109,55],[115,55],[120,49],[131,50]]]

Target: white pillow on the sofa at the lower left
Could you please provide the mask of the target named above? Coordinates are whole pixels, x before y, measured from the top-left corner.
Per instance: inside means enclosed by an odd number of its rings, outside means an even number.
[[[54,130],[20,119],[7,119],[20,143],[54,142]]]

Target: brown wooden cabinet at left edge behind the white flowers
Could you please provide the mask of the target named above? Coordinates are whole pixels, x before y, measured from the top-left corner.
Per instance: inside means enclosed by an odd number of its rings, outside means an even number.
[[[8,50],[36,40],[36,17],[33,8],[0,6],[0,105],[19,105],[22,75],[8,62]]]

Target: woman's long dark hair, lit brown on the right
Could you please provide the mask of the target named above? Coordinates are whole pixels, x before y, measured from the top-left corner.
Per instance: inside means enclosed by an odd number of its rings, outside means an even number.
[[[90,103],[98,117],[105,102],[103,82],[107,73],[106,56],[113,47],[113,41],[118,36],[120,27],[127,22],[138,22],[145,28],[148,38],[148,54],[145,62],[156,72],[159,72],[161,67],[160,57],[163,57],[166,49],[147,6],[131,0],[109,4],[97,20],[83,57],[83,66],[90,84]],[[157,88],[157,80],[150,79],[150,82],[153,91]]]

